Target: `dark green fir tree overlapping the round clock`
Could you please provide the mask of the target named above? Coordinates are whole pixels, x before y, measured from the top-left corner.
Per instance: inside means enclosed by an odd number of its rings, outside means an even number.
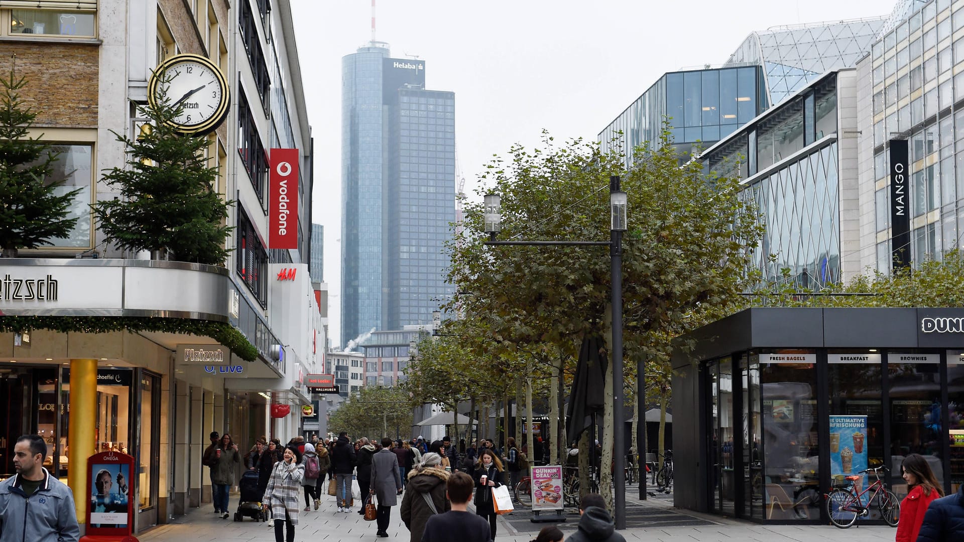
[[[214,190],[218,170],[207,165],[208,141],[174,128],[183,105],[171,103],[166,85],[159,88],[153,103],[138,105],[148,129],[135,139],[115,132],[127,161],[103,176],[121,197],[94,204],[100,230],[121,249],[168,251],[172,259],[223,265],[233,202]]]

